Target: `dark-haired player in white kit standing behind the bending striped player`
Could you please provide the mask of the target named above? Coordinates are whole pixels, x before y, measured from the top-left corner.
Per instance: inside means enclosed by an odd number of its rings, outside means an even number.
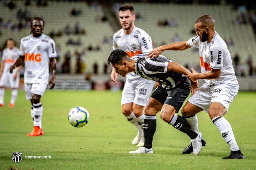
[[[122,5],[119,8],[119,20],[123,28],[113,36],[113,50],[122,49],[132,57],[133,55],[148,53],[153,49],[150,36],[134,25],[133,6]],[[110,77],[112,81],[116,82],[115,69],[112,69]],[[133,145],[143,146],[144,144],[143,109],[148,102],[154,84],[154,81],[145,80],[135,73],[128,73],[126,76],[121,105],[124,116],[138,129],[137,136],[132,141]]]

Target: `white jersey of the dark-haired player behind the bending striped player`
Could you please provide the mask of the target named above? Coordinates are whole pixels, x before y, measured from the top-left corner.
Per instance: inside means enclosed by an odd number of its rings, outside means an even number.
[[[153,50],[151,37],[142,29],[134,26],[130,34],[125,34],[124,29],[120,29],[113,36],[113,50],[122,49],[130,57],[138,54],[148,54]],[[141,77],[131,72],[126,75],[130,80],[137,80]]]

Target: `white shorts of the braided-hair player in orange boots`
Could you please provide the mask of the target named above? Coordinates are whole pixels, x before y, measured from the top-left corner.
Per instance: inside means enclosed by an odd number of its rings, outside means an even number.
[[[31,100],[32,94],[43,96],[47,87],[46,83],[24,83],[26,99]]]

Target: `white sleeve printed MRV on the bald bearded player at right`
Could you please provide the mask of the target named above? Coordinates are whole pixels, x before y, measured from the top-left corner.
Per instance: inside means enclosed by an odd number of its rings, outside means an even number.
[[[223,56],[225,51],[220,47],[213,47],[210,50],[210,57],[211,57],[211,68],[213,69],[221,69],[223,65]]]

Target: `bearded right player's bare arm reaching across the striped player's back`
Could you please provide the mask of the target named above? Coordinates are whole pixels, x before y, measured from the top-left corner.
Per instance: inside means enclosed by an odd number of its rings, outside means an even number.
[[[146,58],[149,58],[149,57],[153,57],[155,58],[156,56],[158,55],[161,55],[161,53],[165,50],[185,50],[185,49],[188,49],[190,48],[190,46],[188,45],[188,41],[180,41],[180,42],[175,42],[175,43],[172,43],[172,44],[168,44],[168,45],[164,45],[164,46],[160,46],[160,47],[157,47],[157,48],[154,48],[152,51],[150,51]]]

